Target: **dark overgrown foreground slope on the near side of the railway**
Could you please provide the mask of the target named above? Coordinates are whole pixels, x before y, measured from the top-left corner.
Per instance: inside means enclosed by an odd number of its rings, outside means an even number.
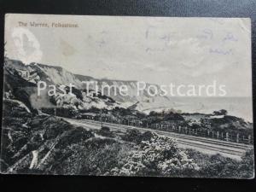
[[[4,109],[2,172],[253,177],[253,151],[241,161],[232,160],[220,154],[177,148],[172,138],[151,131],[131,129],[119,137],[108,127],[87,131],[53,116],[33,116],[16,102],[4,101]]]

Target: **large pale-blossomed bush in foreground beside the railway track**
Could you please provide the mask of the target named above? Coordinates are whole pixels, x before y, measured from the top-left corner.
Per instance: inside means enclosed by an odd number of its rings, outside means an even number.
[[[113,175],[142,175],[177,177],[199,170],[188,155],[178,149],[172,138],[153,133],[149,141],[142,141],[113,168]]]

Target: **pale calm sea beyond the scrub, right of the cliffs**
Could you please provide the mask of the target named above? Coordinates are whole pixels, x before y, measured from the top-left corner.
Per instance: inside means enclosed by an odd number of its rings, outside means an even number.
[[[149,103],[148,103],[149,104]],[[147,105],[148,106],[148,105]],[[146,107],[146,106],[145,106]],[[212,113],[220,109],[228,111],[229,115],[245,119],[253,123],[252,97],[170,97],[169,102],[154,103],[152,108],[145,108],[144,112],[163,111],[173,108],[183,113]]]

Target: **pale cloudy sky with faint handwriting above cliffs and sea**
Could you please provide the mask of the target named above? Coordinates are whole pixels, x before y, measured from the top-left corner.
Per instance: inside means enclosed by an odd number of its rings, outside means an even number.
[[[6,15],[5,42],[6,55],[26,64],[153,84],[215,80],[225,84],[227,96],[252,96],[251,21],[246,18]]]

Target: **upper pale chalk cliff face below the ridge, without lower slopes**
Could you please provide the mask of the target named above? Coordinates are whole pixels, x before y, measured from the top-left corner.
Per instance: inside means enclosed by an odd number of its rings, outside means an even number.
[[[32,68],[38,73],[40,80],[44,80],[51,84],[73,84],[78,89],[84,89],[86,86],[84,82],[88,81],[96,81],[99,89],[102,89],[102,86],[109,86],[109,87],[117,87],[119,88],[122,85],[125,85],[128,89],[127,96],[120,95],[120,90],[116,90],[116,94],[114,89],[110,89],[109,96],[112,97],[116,102],[154,102],[154,100],[160,99],[160,97],[166,101],[169,101],[168,97],[164,96],[149,96],[148,86],[150,84],[146,84],[146,89],[142,91],[139,96],[137,94],[137,81],[123,81],[123,80],[112,80],[112,79],[94,79],[90,76],[84,76],[79,74],[73,74],[68,72],[67,70],[63,69],[62,67],[52,67],[46,66],[42,64],[34,64],[32,63],[28,67]],[[158,87],[158,92],[160,93],[160,87]],[[92,85],[91,89],[95,89]],[[152,90],[154,91],[154,90]],[[108,89],[104,89],[105,95],[108,93]],[[129,103],[130,104],[130,103]]]

